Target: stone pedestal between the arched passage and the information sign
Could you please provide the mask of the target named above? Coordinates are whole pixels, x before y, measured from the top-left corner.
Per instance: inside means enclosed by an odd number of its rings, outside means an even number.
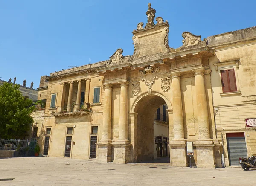
[[[173,167],[187,167],[186,144],[168,144],[170,147],[170,163]]]

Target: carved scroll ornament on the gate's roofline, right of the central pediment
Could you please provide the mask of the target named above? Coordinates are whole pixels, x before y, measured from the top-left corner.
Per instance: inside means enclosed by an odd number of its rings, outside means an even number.
[[[180,48],[185,48],[189,46],[195,46],[195,45],[207,45],[207,39],[204,38],[204,40],[201,40],[201,35],[194,35],[190,32],[183,32],[182,37],[184,38],[182,40],[183,45]]]

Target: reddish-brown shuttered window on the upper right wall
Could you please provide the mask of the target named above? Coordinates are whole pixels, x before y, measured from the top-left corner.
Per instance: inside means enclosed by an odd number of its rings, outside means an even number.
[[[225,92],[236,92],[236,77],[235,70],[221,70],[221,84],[222,91]]]

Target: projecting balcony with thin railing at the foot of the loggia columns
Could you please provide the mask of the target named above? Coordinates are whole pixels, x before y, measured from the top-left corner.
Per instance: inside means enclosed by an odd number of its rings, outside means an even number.
[[[56,106],[54,108],[49,108],[50,113],[54,116],[63,116],[63,115],[77,115],[77,114],[88,114],[91,110],[89,105],[64,105]]]

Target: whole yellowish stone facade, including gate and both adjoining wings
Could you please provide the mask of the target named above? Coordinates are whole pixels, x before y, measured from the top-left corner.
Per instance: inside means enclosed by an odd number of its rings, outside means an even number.
[[[183,32],[183,45],[174,49],[168,21],[157,17],[154,24],[155,12],[148,5],[148,23],[132,32],[133,55],[117,49],[109,60],[41,77],[38,99],[46,99],[46,108],[33,117],[42,154],[116,163],[152,160],[154,113],[164,104],[171,166],[188,166],[186,142],[193,142],[197,167],[221,167],[222,145],[228,162],[221,139],[227,131],[245,132],[248,154],[256,153],[256,132],[244,125],[244,118],[256,117],[256,27],[203,40]],[[223,93],[220,72],[230,68],[237,90]]]

